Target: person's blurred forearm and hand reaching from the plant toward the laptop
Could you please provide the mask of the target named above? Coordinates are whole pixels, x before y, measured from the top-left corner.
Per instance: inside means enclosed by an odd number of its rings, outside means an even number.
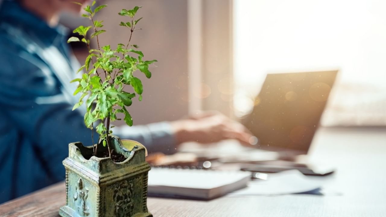
[[[121,138],[132,138],[149,149],[149,153],[176,153],[184,142],[213,143],[223,139],[236,139],[242,145],[255,147],[251,132],[244,125],[215,112],[201,112],[190,119],[159,122],[136,127],[114,127],[113,132]]]

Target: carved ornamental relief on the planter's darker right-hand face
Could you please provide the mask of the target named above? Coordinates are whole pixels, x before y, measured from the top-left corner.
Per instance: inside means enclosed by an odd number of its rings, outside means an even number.
[[[124,180],[114,189],[115,216],[132,216],[134,211],[133,183]]]

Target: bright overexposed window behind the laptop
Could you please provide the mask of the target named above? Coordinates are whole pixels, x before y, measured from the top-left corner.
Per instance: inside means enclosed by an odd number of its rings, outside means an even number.
[[[251,110],[270,71],[338,68],[323,123],[386,124],[385,7],[379,0],[235,0],[235,115]]]

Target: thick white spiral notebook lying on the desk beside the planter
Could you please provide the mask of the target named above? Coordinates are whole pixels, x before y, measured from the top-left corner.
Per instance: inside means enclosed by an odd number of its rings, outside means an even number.
[[[212,199],[247,186],[251,173],[152,168],[149,171],[149,196]]]

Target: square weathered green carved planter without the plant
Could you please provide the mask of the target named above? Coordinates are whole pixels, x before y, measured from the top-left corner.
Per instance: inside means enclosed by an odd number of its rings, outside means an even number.
[[[63,217],[152,217],[147,210],[146,149],[135,141],[111,137],[116,153],[127,159],[115,163],[111,158],[92,156],[92,147],[80,142],[69,144],[66,168],[66,205]],[[99,146],[98,153],[107,147]]]

